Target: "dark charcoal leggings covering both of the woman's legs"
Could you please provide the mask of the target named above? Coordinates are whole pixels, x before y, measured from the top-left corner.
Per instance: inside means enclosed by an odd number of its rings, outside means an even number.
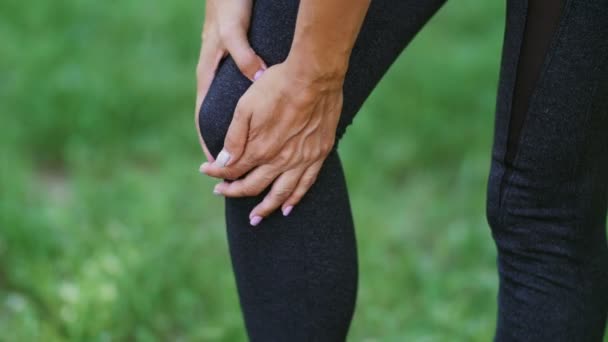
[[[374,0],[344,84],[334,150],[288,217],[253,229],[256,197],[227,198],[232,265],[252,341],[343,341],[357,294],[351,208],[336,147],[365,99],[444,0]],[[297,0],[257,0],[250,41],[290,48]],[[600,341],[608,310],[608,0],[508,0],[487,218],[498,250],[497,341]],[[213,155],[250,86],[222,61],[201,108]],[[373,141],[370,141],[373,143]]]

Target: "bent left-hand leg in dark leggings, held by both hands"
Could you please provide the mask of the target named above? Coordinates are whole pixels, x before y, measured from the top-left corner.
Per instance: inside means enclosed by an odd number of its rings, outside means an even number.
[[[443,2],[372,1],[345,79],[337,141],[389,66]],[[294,0],[255,2],[250,41],[269,65],[287,57],[297,9]],[[221,64],[199,122],[213,155],[221,150],[232,112],[249,85],[230,58]],[[267,191],[226,199],[228,241],[249,338],[344,340],[356,299],[357,255],[336,149],[288,217],[277,211],[251,227],[249,212]]]

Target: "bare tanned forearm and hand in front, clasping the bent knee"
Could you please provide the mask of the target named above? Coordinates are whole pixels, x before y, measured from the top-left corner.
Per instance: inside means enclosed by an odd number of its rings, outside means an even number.
[[[334,145],[348,59],[369,2],[302,0],[287,59],[241,97],[224,149],[201,165],[209,176],[234,180],[216,185],[224,196],[255,196],[272,184],[249,215],[252,225],[279,207],[288,215],[315,182]]]

